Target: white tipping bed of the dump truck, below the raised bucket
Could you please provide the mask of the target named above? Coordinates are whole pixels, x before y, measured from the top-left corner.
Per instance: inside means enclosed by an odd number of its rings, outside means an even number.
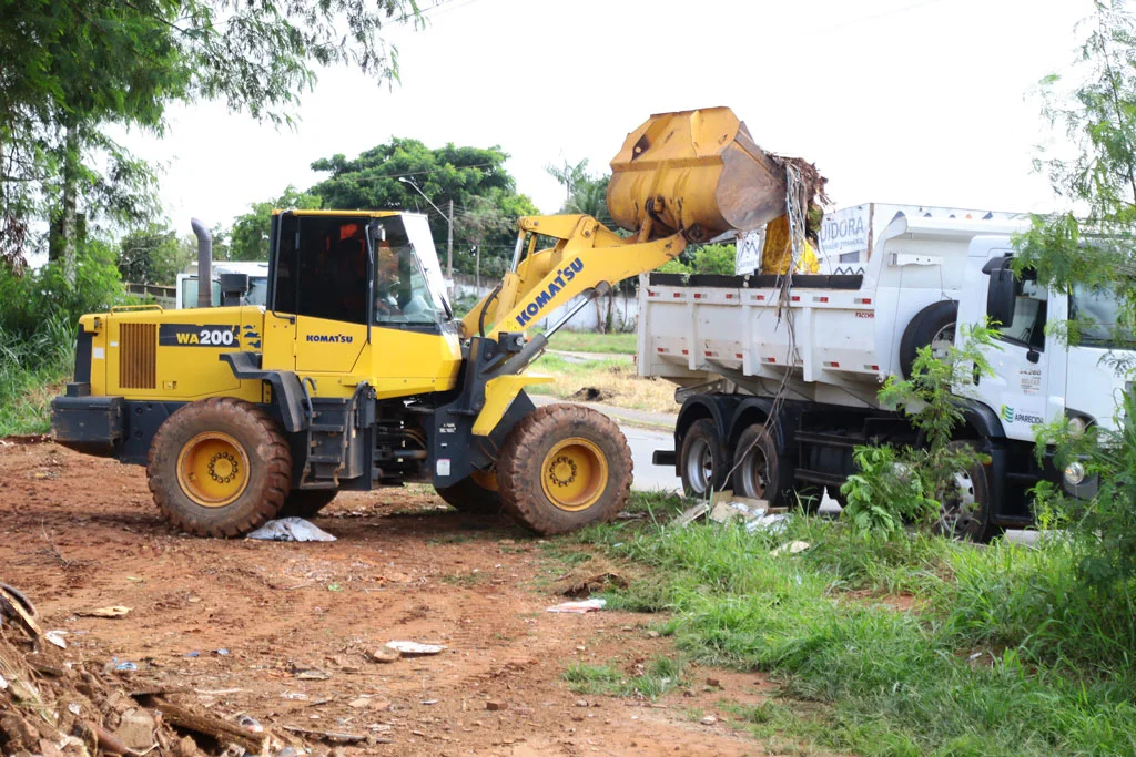
[[[1019,227],[901,215],[862,271],[796,275],[787,301],[776,276],[645,274],[640,376],[683,387],[727,379],[759,396],[775,395],[787,380],[797,399],[875,406],[880,384],[900,373],[907,325],[935,302],[958,300],[971,239]]]

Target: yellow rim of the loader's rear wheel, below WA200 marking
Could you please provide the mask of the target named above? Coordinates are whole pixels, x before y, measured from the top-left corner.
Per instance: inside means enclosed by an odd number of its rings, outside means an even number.
[[[249,456],[227,434],[199,434],[177,455],[177,482],[202,507],[224,507],[249,486]]]

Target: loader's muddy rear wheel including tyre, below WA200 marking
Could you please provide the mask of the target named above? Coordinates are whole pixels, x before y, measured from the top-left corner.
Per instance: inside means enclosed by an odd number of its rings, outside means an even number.
[[[147,465],[162,514],[194,536],[235,537],[275,516],[292,488],[292,453],[272,417],[241,399],[178,409]]]

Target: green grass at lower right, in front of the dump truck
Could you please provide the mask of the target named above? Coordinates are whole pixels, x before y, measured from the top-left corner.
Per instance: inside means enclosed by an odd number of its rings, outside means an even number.
[[[1136,752],[1131,609],[1077,582],[1070,545],[883,545],[807,518],[677,529],[677,498],[636,498],[648,518],[575,537],[650,571],[609,606],[668,611],[698,663],[770,672],[787,710],[753,713],[754,732],[863,754]],[[788,540],[812,546],[770,555]]]

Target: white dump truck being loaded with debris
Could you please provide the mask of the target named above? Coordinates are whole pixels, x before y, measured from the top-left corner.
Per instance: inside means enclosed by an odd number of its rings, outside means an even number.
[[[883,381],[905,376],[920,346],[953,343],[957,323],[989,316],[1002,323],[988,355],[995,376],[955,387],[966,414],[957,438],[989,464],[960,471],[946,522],[988,539],[1031,522],[1028,490],[1039,480],[1089,494],[1079,464],[1037,462],[1033,428],[1061,415],[1112,423],[1129,388],[1105,359],[1117,303],[1016,278],[1011,235],[1025,217],[866,208],[875,230],[859,260],[845,259],[840,274],[795,275],[787,292],[760,274],[641,277],[638,372],[677,384],[682,403],[675,448],[654,463],[674,465],[692,495],[733,488],[775,505],[794,494],[819,502],[822,488],[838,497],[857,445],[920,443],[901,413],[880,406]],[[879,218],[880,209],[894,216]],[[1046,334],[1071,314],[1094,321],[1077,344]]]

